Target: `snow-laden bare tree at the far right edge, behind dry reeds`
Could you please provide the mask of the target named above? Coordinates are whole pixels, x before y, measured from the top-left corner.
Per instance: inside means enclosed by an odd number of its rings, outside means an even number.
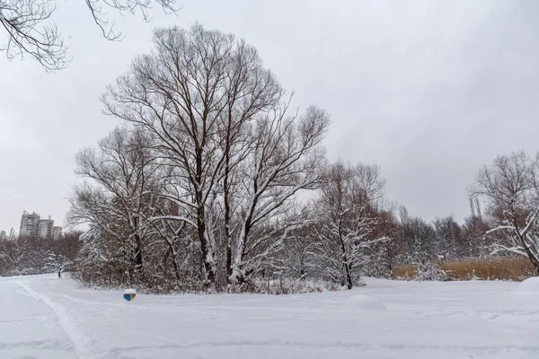
[[[490,215],[507,241],[499,241],[493,253],[509,252],[530,259],[539,272],[539,153],[524,152],[497,157],[477,175],[473,196],[486,198]]]

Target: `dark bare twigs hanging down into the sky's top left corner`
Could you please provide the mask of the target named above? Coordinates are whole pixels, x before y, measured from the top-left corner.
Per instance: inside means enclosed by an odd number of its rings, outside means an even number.
[[[82,3],[82,1],[81,1]],[[106,8],[120,13],[142,13],[149,21],[148,9],[153,4],[163,7],[165,13],[178,11],[176,0],[84,0],[93,21],[99,26],[105,39],[121,39],[121,33],[114,31]],[[28,55],[40,62],[48,71],[66,66],[64,39],[54,22],[50,22],[56,10],[55,0],[0,0],[0,25],[7,33],[4,45],[7,58]]]

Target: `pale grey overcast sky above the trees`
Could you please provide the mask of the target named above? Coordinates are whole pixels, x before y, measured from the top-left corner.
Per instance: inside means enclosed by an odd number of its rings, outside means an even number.
[[[63,223],[74,156],[119,124],[104,87],[151,48],[155,26],[232,32],[259,49],[296,104],[331,113],[331,159],[377,163],[389,199],[427,220],[469,214],[466,187],[499,153],[538,149],[539,3],[185,0],[178,16],[116,18],[102,39],[84,2],[55,18],[74,61],[46,74],[0,57],[0,229],[22,210]],[[4,33],[0,32],[4,40]]]

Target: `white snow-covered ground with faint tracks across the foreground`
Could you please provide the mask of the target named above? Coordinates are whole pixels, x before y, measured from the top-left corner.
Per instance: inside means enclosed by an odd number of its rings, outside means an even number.
[[[55,275],[0,278],[0,358],[539,358],[537,293],[517,283],[366,282],[127,302]]]

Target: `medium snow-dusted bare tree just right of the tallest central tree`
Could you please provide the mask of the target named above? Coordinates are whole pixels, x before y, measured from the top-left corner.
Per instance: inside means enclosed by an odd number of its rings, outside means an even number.
[[[382,196],[384,183],[376,166],[337,162],[331,165],[327,183],[320,190],[315,235],[322,251],[321,265],[331,280],[349,289],[366,261],[365,250],[387,240],[369,238],[376,224],[373,206]]]

